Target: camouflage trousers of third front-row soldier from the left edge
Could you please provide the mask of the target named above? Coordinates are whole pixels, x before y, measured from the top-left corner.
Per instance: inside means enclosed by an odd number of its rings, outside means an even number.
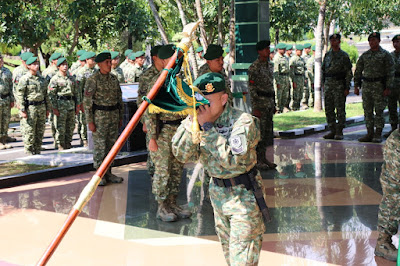
[[[71,144],[75,129],[75,110],[59,109],[60,115],[54,116],[56,143],[63,148]]]

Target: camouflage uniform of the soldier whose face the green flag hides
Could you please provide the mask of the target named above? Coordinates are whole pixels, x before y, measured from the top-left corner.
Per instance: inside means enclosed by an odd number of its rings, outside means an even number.
[[[159,76],[160,73],[150,84],[154,84]],[[157,151],[150,151],[155,168],[152,192],[158,202],[165,201],[171,195],[177,196],[179,192],[183,164],[172,154],[171,139],[183,118],[184,116],[176,113],[160,113],[149,114],[148,119],[145,120],[148,138],[155,139],[158,145]],[[158,135],[157,123],[162,125]]]

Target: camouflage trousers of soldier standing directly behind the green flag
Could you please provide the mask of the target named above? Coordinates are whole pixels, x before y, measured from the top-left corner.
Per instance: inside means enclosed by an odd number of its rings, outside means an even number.
[[[152,192],[157,201],[164,201],[169,195],[178,195],[183,165],[172,154],[171,140],[178,125],[164,125],[157,139],[158,150],[150,151],[154,163]]]

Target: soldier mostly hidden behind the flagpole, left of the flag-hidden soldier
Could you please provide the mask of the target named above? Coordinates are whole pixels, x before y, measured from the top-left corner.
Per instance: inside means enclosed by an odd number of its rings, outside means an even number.
[[[143,74],[139,77],[139,90],[138,90],[138,97],[137,97],[137,106],[139,107],[140,104],[143,102],[143,96],[146,96],[151,89],[151,81],[154,79],[155,76],[158,75],[158,73],[162,70],[162,61],[160,58],[158,58],[158,51],[160,50],[161,45],[156,45],[153,48],[151,48],[150,55],[151,59],[153,61],[153,64],[151,67],[146,69]],[[150,134],[147,134],[147,128],[146,122],[149,119],[149,114],[146,111],[141,119],[141,122],[143,124],[143,132],[146,133],[146,147],[147,149],[149,148],[149,141],[150,141]],[[147,156],[147,170],[150,174],[151,177],[154,175],[154,163],[151,160],[151,156]]]

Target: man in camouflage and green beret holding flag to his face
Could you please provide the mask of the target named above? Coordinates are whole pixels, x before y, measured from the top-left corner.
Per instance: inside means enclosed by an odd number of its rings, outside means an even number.
[[[182,163],[199,161],[212,177],[209,194],[215,230],[228,265],[257,265],[265,231],[262,213],[268,215],[255,167],[258,119],[226,104],[228,95],[219,73],[200,76],[194,85],[210,101],[198,109],[201,142],[193,142],[188,116],[172,139],[173,153]]]

